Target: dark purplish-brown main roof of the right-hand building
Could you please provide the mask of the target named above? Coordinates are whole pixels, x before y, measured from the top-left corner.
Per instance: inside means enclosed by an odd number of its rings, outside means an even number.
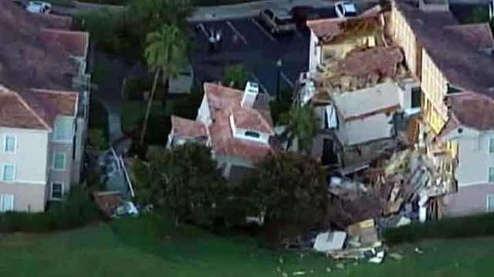
[[[494,88],[494,70],[486,70],[494,67],[493,56],[472,47],[486,43],[486,34],[464,36],[463,31],[458,34],[458,29],[451,31],[451,25],[458,25],[451,12],[423,12],[403,0],[395,3],[417,40],[452,85],[494,98],[491,89]],[[481,29],[476,27],[478,32],[484,33]]]

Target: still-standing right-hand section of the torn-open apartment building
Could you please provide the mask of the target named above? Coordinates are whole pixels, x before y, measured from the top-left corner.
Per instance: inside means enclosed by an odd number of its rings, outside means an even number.
[[[421,83],[420,144],[458,183],[444,198],[445,215],[494,211],[489,25],[459,25],[447,1],[396,0],[387,26]]]

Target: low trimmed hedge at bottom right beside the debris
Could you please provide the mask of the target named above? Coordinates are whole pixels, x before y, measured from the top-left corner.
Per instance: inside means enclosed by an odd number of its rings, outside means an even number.
[[[494,213],[471,217],[455,217],[444,220],[411,224],[384,230],[384,240],[389,244],[416,242],[423,239],[458,239],[494,235]]]

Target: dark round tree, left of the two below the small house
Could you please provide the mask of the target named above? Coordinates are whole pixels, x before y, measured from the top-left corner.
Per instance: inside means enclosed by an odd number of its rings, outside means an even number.
[[[132,170],[137,197],[169,211],[176,224],[181,220],[211,224],[220,215],[226,186],[206,146],[185,144],[163,150]]]

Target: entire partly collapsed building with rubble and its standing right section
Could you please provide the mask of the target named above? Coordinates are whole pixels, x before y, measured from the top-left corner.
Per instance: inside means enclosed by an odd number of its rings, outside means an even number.
[[[296,101],[320,117],[311,154],[342,177],[328,181],[341,211],[333,218],[494,211],[489,25],[459,25],[447,3],[397,0],[390,12],[307,26]],[[353,205],[363,201],[368,209]]]

